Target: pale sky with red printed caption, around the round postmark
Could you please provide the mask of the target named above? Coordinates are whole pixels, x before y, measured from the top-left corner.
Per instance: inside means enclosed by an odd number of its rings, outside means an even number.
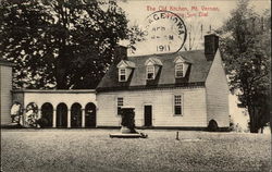
[[[220,28],[224,21],[230,17],[232,10],[237,5],[235,0],[123,0],[119,5],[126,12],[129,25],[146,26],[146,19],[158,10],[168,10],[177,14],[185,23],[187,28],[187,39],[182,51],[191,47],[191,49],[203,49],[203,35],[210,29]],[[250,5],[255,11],[262,13],[264,9],[270,9],[270,0],[252,0]],[[195,7],[197,10],[195,10]],[[271,10],[271,9],[270,9]],[[202,26],[201,26],[202,25]],[[202,32],[201,32],[202,27]],[[190,38],[190,41],[189,41]],[[189,46],[190,42],[190,46]],[[127,42],[121,42],[121,45]],[[153,45],[153,47],[152,47]],[[156,51],[158,41],[145,41],[137,44],[137,50],[129,56],[152,54]],[[164,45],[163,45],[164,46]],[[173,51],[175,51],[174,49]]]

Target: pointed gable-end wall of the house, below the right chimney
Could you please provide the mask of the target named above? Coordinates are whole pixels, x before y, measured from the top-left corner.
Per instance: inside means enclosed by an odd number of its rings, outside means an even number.
[[[215,120],[220,127],[230,126],[228,86],[220,52],[212,62],[206,81],[208,121]]]

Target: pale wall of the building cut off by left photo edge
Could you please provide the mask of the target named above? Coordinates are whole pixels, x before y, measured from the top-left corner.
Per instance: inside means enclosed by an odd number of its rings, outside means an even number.
[[[12,67],[0,65],[0,85],[1,85],[1,125],[11,123],[11,101],[12,101]]]

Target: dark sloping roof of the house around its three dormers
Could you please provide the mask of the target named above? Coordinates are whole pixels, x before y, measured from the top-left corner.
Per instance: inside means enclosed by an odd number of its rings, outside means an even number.
[[[175,78],[175,62],[178,57],[184,57],[190,62],[186,76],[183,79],[177,81]],[[101,82],[99,83],[97,90],[125,90],[133,88],[148,88],[146,79],[146,61],[150,58],[156,58],[161,61],[160,73],[157,81],[152,84],[152,87],[175,87],[177,85],[203,85],[211,67],[212,61],[207,61],[203,50],[183,51],[177,53],[165,54],[150,54],[139,57],[128,57],[128,61],[134,62],[136,67],[131,74],[128,82],[119,82],[119,70],[116,65],[110,66]]]

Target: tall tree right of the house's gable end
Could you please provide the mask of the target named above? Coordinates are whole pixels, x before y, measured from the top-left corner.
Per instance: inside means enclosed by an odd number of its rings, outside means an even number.
[[[231,90],[237,93],[240,106],[247,108],[251,133],[269,122],[269,73],[271,58],[271,15],[258,15],[249,1],[238,1],[220,30],[223,61]]]

